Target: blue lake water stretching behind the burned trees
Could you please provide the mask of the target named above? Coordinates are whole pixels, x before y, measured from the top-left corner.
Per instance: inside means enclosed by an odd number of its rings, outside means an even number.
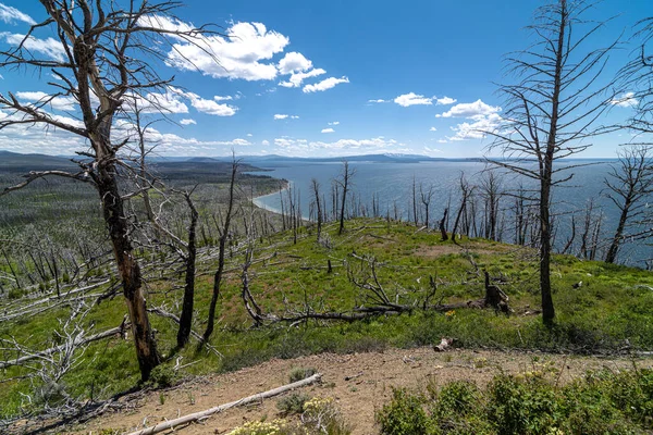
[[[554,210],[560,215],[556,217],[557,227],[554,245],[562,249],[568,239],[570,231],[570,213],[576,214],[577,232],[584,220],[586,210],[590,200],[595,201],[595,213],[603,213],[601,221],[601,237],[606,239],[615,231],[619,211],[603,194],[604,179],[607,176],[609,164],[614,161],[570,161],[567,165],[582,164],[567,172],[560,177],[574,173],[571,181],[554,189]],[[326,208],[331,210],[331,186],[334,178],[338,177],[343,164],[341,162],[297,162],[297,161],[269,161],[257,162],[257,166],[270,170],[267,174],[276,178],[285,178],[294,189],[300,191],[300,208],[305,219],[310,217],[310,203],[312,201],[311,179],[316,178],[321,185],[321,192],[325,196]],[[459,206],[459,178],[464,173],[470,184],[481,183],[486,177],[486,165],[475,161],[424,161],[419,163],[378,163],[378,162],[349,162],[355,171],[352,178],[352,190],[371,212],[372,197],[379,200],[381,215],[394,215],[395,204],[403,220],[412,220],[412,183],[422,184],[424,190],[433,186],[431,200],[430,226],[436,225],[442,219],[444,209],[451,201],[451,213],[455,213]],[[533,187],[532,181],[505,174],[502,178],[502,190],[514,194],[519,186]],[[285,197],[285,194],[284,194]],[[419,190],[418,190],[419,197]],[[357,200],[358,201],[358,200]],[[418,198],[419,201],[419,198]],[[515,199],[504,196],[502,199],[502,213],[508,209]],[[255,203],[261,208],[281,211],[280,194],[259,197]],[[451,216],[449,216],[451,217]],[[449,221],[452,224],[453,217]],[[506,231],[506,241],[513,241],[510,231]],[[580,234],[577,233],[577,238]],[[578,240],[580,243],[580,240]],[[603,245],[604,246],[604,245]],[[636,244],[625,244],[620,254],[620,262],[644,265],[644,260],[651,257],[650,249]]]

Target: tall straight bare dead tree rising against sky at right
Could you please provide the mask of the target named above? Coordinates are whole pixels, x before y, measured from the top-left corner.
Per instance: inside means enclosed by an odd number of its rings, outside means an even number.
[[[552,189],[570,179],[569,171],[578,166],[559,160],[584,151],[592,137],[611,130],[595,125],[615,97],[613,83],[602,73],[617,42],[606,48],[590,46],[605,23],[584,21],[589,7],[582,0],[553,0],[538,9],[535,24],[530,26],[533,45],[507,58],[516,83],[501,86],[504,124],[485,132],[494,138],[490,151],[508,158],[493,159],[494,165],[538,183],[540,291],[546,324],[555,316]]]

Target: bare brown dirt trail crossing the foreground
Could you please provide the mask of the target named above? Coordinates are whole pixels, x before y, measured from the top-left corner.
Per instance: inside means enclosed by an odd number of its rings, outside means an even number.
[[[333,397],[354,425],[354,434],[378,434],[374,412],[392,394],[393,386],[423,387],[428,378],[439,384],[453,380],[472,380],[486,384],[497,368],[518,373],[533,370],[533,364],[549,362],[562,369],[560,382],[588,370],[632,368],[627,358],[565,357],[539,352],[500,352],[452,350],[436,353],[432,348],[389,349],[384,352],[332,355],[271,360],[234,373],[196,378],[170,390],[148,394],[134,411],[106,414],[76,427],[76,434],[98,434],[102,428],[128,431],[153,425],[165,419],[201,411],[288,383],[293,368],[315,368],[323,373],[321,385],[304,388],[309,396]],[[637,360],[638,366],[653,366],[653,359]],[[358,375],[358,376],[356,376]],[[345,381],[346,376],[356,376]],[[223,434],[249,420],[278,417],[279,398],[256,406],[231,409],[212,415],[202,424],[176,431],[178,434]],[[161,405],[163,402],[163,405]]]

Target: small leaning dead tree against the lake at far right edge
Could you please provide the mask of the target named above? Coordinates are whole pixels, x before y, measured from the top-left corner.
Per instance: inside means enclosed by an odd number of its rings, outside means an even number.
[[[653,192],[653,159],[651,147],[632,145],[619,152],[619,162],[611,167],[605,196],[619,209],[619,222],[605,254],[606,263],[614,263],[629,223],[641,220],[646,204],[643,203]]]

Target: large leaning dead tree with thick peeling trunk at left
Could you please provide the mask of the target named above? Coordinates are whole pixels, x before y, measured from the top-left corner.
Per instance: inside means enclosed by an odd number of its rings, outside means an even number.
[[[67,0],[40,2],[47,17],[33,25],[17,46],[0,51],[0,67],[36,71],[59,79],[49,84],[50,94],[37,103],[21,102],[11,92],[1,95],[0,109],[9,115],[0,121],[0,129],[20,125],[57,128],[81,138],[88,148],[77,152],[85,159],[79,162],[78,173],[33,172],[25,182],[5,188],[0,195],[48,176],[84,181],[97,189],[130,312],[141,378],[147,380],[159,363],[159,355],[120,184],[121,167],[126,165],[121,149],[130,139],[119,139],[113,127],[119,120],[128,122],[134,101],[149,101],[144,97],[147,92],[169,90],[172,79],[161,78],[152,66],[165,58],[159,49],[160,42],[194,44],[211,54],[201,37],[214,32],[208,27],[175,25],[178,21],[173,12],[181,3],[174,1],[131,1],[124,3],[125,8],[101,0],[78,0],[74,4]],[[34,34],[42,29],[57,36],[60,57],[28,49]],[[77,120],[48,112],[48,107],[60,97],[74,100]],[[149,103],[157,105],[156,101]]]

